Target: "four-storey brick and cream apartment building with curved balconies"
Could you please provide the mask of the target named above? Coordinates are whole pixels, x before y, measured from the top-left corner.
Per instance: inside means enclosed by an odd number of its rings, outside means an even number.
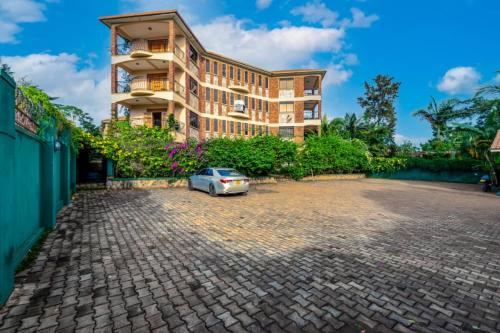
[[[100,18],[111,29],[111,116],[176,120],[178,141],[318,132],[324,70],[267,71],[205,50],[175,10]],[[279,46],[277,46],[279,47]]]

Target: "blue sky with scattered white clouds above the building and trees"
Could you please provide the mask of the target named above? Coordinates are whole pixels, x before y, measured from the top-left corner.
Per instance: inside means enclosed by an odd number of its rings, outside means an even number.
[[[422,141],[411,116],[430,96],[470,96],[500,81],[496,0],[4,0],[0,56],[61,102],[109,115],[109,31],[99,16],[176,8],[210,50],[261,65],[327,68],[323,110],[360,113],[363,82],[402,82],[398,139]],[[258,41],[258,42],[257,42]]]

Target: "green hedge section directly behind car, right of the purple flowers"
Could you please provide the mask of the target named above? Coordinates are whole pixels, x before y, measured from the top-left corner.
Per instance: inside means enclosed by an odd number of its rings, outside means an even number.
[[[205,145],[205,162],[215,167],[231,167],[248,176],[284,172],[293,163],[297,145],[276,136],[245,139],[212,139]]]

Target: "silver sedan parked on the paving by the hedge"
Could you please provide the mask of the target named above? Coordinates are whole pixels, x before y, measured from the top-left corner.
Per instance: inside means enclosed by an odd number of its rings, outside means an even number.
[[[211,196],[229,193],[248,193],[249,179],[229,168],[206,168],[189,177],[189,190],[198,189]]]

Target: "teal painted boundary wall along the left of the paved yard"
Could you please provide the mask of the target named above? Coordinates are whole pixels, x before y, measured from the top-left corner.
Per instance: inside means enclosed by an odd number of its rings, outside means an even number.
[[[17,127],[14,103],[15,82],[0,70],[0,305],[17,265],[42,232],[55,227],[76,186],[69,130],[58,133],[54,120],[43,137]]]

